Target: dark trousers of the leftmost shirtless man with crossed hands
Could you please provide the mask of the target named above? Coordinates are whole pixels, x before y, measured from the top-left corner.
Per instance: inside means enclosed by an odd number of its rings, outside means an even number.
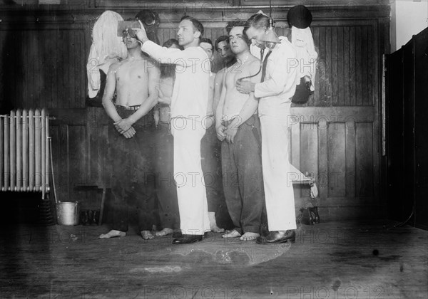
[[[117,106],[116,109],[122,118],[134,112]],[[159,223],[153,165],[156,135],[153,115],[148,113],[133,127],[136,135],[130,139],[123,137],[113,125],[108,127],[113,229],[128,231],[130,213],[136,213],[138,230],[151,231],[153,224]]]

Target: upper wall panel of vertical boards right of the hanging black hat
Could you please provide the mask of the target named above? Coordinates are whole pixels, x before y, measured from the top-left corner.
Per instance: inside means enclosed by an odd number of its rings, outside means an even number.
[[[318,48],[318,91],[310,106],[374,105],[377,92],[372,63],[377,26],[312,26]],[[377,58],[376,58],[377,59]],[[318,102],[319,99],[319,102]]]

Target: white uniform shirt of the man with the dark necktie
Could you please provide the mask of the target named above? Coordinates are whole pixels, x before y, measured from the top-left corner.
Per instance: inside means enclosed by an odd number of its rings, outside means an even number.
[[[260,98],[259,115],[275,113],[281,105],[291,103],[300,83],[295,47],[284,36],[280,41],[267,58],[264,82],[255,85],[254,95]]]

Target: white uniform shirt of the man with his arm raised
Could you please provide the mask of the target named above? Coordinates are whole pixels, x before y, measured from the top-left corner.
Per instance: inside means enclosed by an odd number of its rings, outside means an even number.
[[[171,118],[186,117],[202,121],[207,115],[210,60],[200,47],[161,47],[153,41],[146,41],[141,50],[159,63],[173,63],[175,83],[171,97]]]

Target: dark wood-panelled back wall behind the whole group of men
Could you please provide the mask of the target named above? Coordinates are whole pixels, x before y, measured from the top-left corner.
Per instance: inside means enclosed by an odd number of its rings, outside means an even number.
[[[102,8],[58,6],[49,13],[24,6],[22,11],[9,8],[0,14],[4,20],[0,26],[0,98],[15,107],[47,107],[57,117],[51,135],[62,201],[75,200],[77,184],[108,184],[110,121],[103,108],[85,103],[91,26],[108,7],[115,6],[113,10],[124,19],[135,16],[138,7],[133,1],[120,9],[117,3],[105,3],[108,6]],[[379,53],[387,51],[389,9],[383,2],[358,3],[361,6],[310,7],[319,53],[315,93],[307,104],[292,108],[297,122],[290,134],[290,158],[302,172],[317,179],[320,207],[332,218],[335,215],[328,211],[333,206],[379,204],[378,61]],[[190,6],[171,10],[163,4],[158,11],[168,21],[158,31],[161,43],[176,38],[180,16]],[[258,11],[251,6],[237,11],[220,2],[215,2],[215,8],[209,14],[201,8],[191,11],[204,22],[205,37],[213,43],[225,34],[227,21],[247,19]],[[287,9],[278,6],[273,11],[280,34],[285,32]],[[39,15],[39,22],[35,23],[34,14]],[[76,17],[74,23],[71,15]],[[220,58],[215,55],[213,70],[218,68]],[[300,197],[307,197],[307,192]]]

